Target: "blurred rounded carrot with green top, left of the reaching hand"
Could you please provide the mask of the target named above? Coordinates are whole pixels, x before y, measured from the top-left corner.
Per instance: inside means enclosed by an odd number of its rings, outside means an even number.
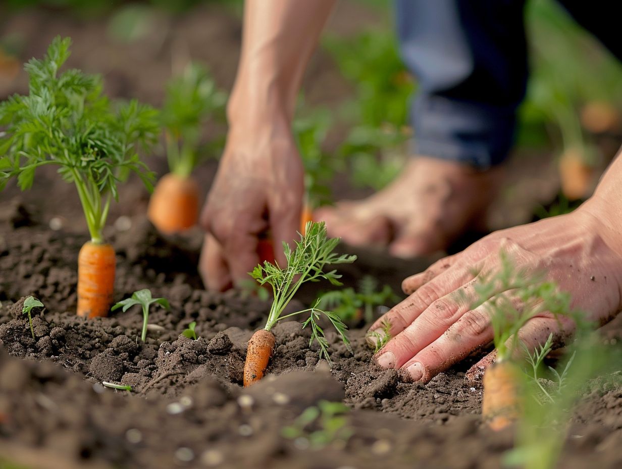
[[[160,232],[187,230],[197,222],[199,189],[192,178],[201,131],[214,113],[224,114],[226,95],[205,67],[188,64],[166,88],[162,125],[169,174],[163,176],[149,201],[147,215]]]

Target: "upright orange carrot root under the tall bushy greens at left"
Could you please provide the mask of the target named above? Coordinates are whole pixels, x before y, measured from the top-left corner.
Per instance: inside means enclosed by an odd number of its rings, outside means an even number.
[[[78,254],[78,316],[108,316],[116,258],[109,244],[86,242]]]

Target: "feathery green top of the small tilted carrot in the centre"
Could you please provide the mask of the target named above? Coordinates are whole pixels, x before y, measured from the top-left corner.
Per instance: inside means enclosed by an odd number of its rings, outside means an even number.
[[[328,341],[317,321],[320,315],[324,315],[335,326],[343,343],[349,346],[350,342],[345,335],[346,326],[339,316],[332,311],[318,309],[317,302],[312,308],[307,310],[296,311],[287,315],[283,315],[283,311],[292,298],[294,298],[300,286],[305,282],[319,282],[324,278],[332,285],[342,285],[338,280],[341,275],[337,273],[337,270],[324,272],[324,268],[328,265],[352,263],[356,260],[355,255],[333,253],[338,243],[338,238],[327,238],[324,222],[308,222],[305,226],[305,234],[300,235],[300,241],[295,242],[296,247],[294,250],[290,249],[287,243],[283,243],[287,267],[282,268],[277,263],[272,264],[265,261],[263,265],[259,264],[251,272],[251,277],[257,280],[260,285],[270,285],[274,295],[264,329],[269,331],[278,321],[302,313],[310,313],[309,319],[305,321],[303,326],[311,326],[310,344],[313,341],[317,341],[320,346],[320,358],[326,358],[327,361],[330,361]]]

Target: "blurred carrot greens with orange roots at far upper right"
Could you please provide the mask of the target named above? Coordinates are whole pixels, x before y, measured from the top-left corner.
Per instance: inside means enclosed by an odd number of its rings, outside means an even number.
[[[620,132],[622,67],[550,0],[533,0],[526,20],[532,73],[519,143],[525,130],[541,135],[536,127],[545,128],[559,154],[564,196],[584,199],[613,157],[601,153],[593,136]]]

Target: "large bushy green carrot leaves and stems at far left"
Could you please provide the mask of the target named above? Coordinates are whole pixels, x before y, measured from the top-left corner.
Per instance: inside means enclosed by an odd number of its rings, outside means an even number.
[[[136,173],[152,187],[153,175],[136,147],[156,142],[159,123],[157,111],[136,100],[113,105],[99,75],[60,72],[70,44],[68,37],[55,37],[43,59],[25,66],[29,94],[0,103],[0,189],[14,177],[22,190],[29,189],[39,166],[57,165],[78,189],[91,240],[101,243],[117,184]]]

